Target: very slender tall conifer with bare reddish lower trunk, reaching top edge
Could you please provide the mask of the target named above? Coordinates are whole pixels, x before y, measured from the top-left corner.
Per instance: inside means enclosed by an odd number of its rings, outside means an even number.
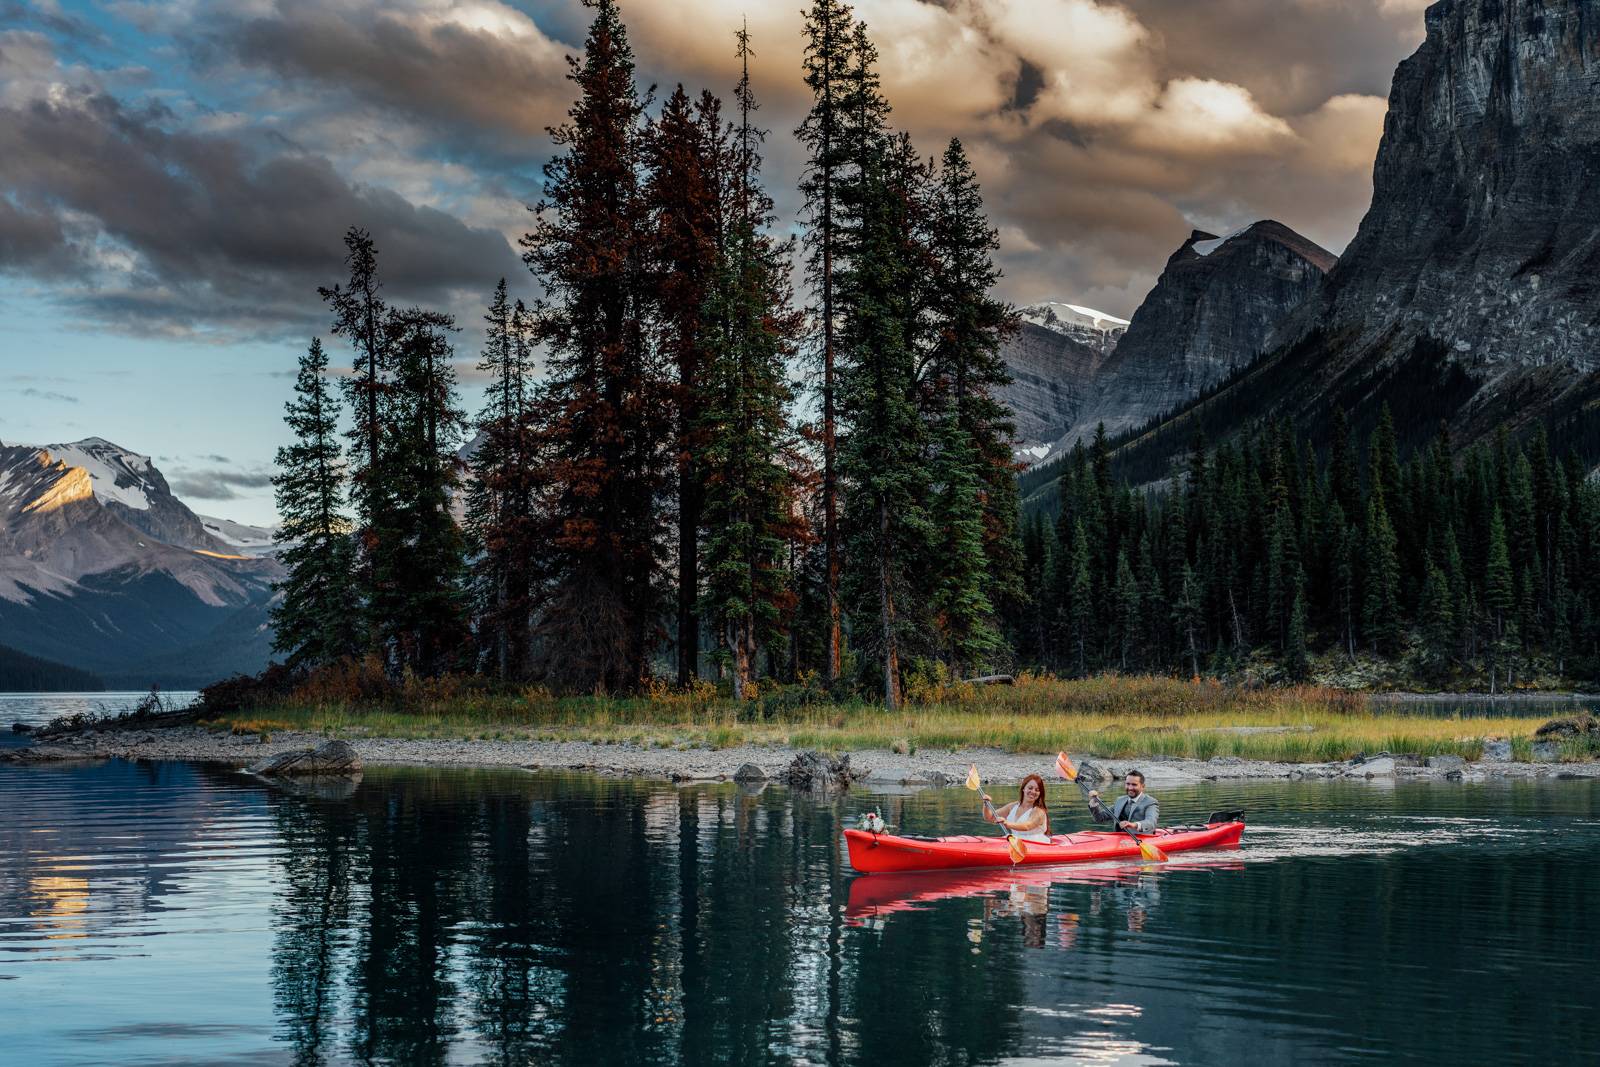
[[[838,677],[843,653],[840,606],[840,534],[838,534],[838,446],[837,446],[837,334],[838,272],[843,264],[845,210],[842,186],[853,165],[845,130],[848,123],[846,70],[851,56],[851,11],[838,0],[813,0],[805,14],[805,83],[811,90],[811,110],[795,138],[806,149],[805,195],[806,278],[811,285],[816,322],[814,352],[821,363],[821,446],[822,446],[822,553],[826,560],[827,649],[824,677]]]

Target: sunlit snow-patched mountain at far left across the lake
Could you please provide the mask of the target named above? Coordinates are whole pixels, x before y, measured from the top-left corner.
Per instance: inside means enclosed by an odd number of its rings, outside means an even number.
[[[0,645],[136,688],[259,670],[282,566],[221,533],[147,456],[0,445]]]

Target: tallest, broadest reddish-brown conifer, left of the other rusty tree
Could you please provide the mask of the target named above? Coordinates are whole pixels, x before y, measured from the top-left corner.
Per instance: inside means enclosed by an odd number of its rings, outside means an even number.
[[[536,673],[563,689],[630,691],[658,640],[661,507],[672,381],[648,344],[648,205],[642,106],[613,0],[595,10],[568,75],[579,98],[554,128],[544,202],[522,238],[546,291],[547,378],[534,405],[546,506],[536,542]]]

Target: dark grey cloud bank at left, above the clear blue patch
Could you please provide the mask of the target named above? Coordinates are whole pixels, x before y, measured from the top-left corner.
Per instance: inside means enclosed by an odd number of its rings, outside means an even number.
[[[70,275],[62,302],[130,333],[277,336],[320,323],[315,286],[341,275],[349,226],[373,232],[400,299],[477,298],[518,269],[499,232],[352,181],[325,155],[195,133],[158,101],[90,86],[53,83],[0,107],[0,189],[5,269]]]

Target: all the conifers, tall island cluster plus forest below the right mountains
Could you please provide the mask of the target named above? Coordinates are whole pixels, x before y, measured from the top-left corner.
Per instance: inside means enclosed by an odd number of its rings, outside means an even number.
[[[456,323],[390,304],[373,237],[346,235],[322,298],[349,373],[310,342],[278,454],[290,667],[894,707],[910,677],[1016,667],[1298,681],[1378,657],[1504,686],[1600,664],[1600,490],[1542,437],[1458,456],[1336,413],[1315,446],[1197,438],[1176,477],[1123,469],[1136,490],[1099,435],[1022,480],[1024,517],[997,234],[962,144],[894,130],[850,6],[806,11],[797,240],[747,74],[731,104],[654,106],[618,5],[589,6],[522,238],[541,296],[485,286],[475,416]],[[746,70],[752,46],[730,34]]]

